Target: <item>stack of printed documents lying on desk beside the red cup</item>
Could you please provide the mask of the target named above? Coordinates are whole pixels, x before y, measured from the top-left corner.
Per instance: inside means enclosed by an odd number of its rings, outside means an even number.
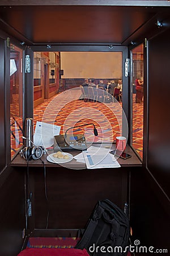
[[[109,148],[90,146],[86,151],[74,156],[74,159],[86,163],[88,169],[121,167],[109,151]]]

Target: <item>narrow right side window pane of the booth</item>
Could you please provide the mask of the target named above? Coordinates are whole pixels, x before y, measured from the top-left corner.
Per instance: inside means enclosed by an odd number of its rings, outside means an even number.
[[[143,158],[143,44],[132,50],[132,146]]]

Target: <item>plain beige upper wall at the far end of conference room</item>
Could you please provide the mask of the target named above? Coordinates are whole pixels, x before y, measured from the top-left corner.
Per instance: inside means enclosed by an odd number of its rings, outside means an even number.
[[[121,52],[61,52],[63,79],[122,77]]]

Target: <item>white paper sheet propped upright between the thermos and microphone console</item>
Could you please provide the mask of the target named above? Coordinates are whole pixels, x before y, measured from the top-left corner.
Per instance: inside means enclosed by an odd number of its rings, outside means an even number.
[[[51,147],[54,144],[54,135],[59,135],[60,130],[61,126],[37,121],[33,143],[36,146]]]

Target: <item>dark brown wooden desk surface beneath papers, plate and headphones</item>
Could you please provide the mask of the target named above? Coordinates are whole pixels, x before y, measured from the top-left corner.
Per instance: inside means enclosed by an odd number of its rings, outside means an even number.
[[[95,145],[94,145],[95,146]],[[114,150],[115,148],[115,144],[113,144],[112,149]],[[61,167],[61,165],[57,164],[57,163],[50,163],[48,162],[48,160],[46,160],[46,156],[48,156],[49,154],[52,154],[53,151],[48,151],[46,155],[42,156],[42,160],[45,163],[46,167]],[[69,151],[70,154],[72,154],[73,156],[79,154],[80,151]],[[129,153],[131,155],[131,158],[128,158],[126,160],[118,158],[118,163],[120,163],[120,165],[122,167],[137,167],[137,166],[142,166],[141,160],[139,160],[139,158],[137,157],[137,155],[135,155],[134,151],[130,148],[129,145],[126,145],[126,149],[125,152]],[[40,167],[42,166],[42,162],[40,159],[38,160],[31,160],[29,161],[29,167]],[[24,158],[22,158],[22,156],[20,156],[19,154],[12,160],[11,162],[11,166],[13,167],[22,167],[22,166],[27,166],[27,160],[25,160]],[[76,162],[75,159],[71,160],[68,163],[62,164],[62,167],[66,167],[66,168],[71,168],[71,169],[85,169],[86,168],[86,164],[85,163],[78,163]]]

